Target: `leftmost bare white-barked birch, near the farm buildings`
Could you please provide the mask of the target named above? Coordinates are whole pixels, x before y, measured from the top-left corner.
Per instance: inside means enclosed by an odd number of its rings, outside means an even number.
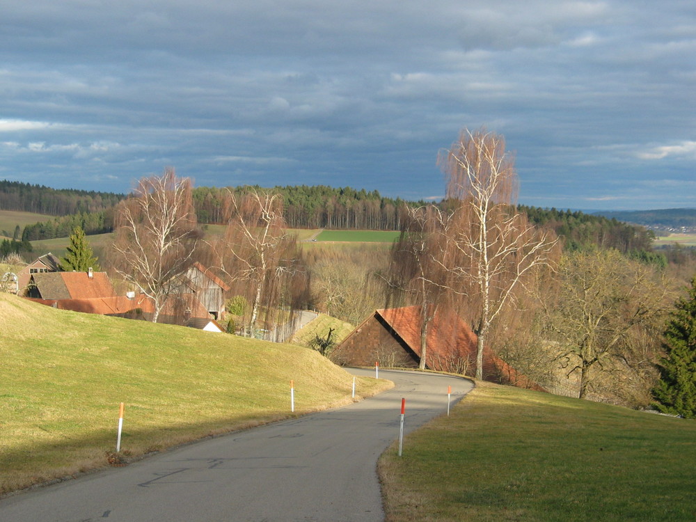
[[[191,181],[166,168],[161,176],[143,177],[116,209],[113,269],[150,297],[159,314],[169,294],[193,262],[198,241]]]

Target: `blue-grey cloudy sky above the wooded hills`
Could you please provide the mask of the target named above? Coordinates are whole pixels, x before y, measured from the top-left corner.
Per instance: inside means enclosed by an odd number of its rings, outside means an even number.
[[[519,203],[696,207],[693,0],[0,0],[0,179],[442,198],[462,129]]]

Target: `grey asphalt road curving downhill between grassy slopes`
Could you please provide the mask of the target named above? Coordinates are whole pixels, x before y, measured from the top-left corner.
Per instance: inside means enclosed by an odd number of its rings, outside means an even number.
[[[374,376],[374,370],[351,370]],[[379,455],[472,388],[380,370],[395,388],[341,409],[212,438],[0,500],[0,521],[381,521]],[[404,447],[404,452],[407,445]]]

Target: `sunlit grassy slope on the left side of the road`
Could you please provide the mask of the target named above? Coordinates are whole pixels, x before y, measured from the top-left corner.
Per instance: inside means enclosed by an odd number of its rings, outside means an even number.
[[[351,401],[317,352],[0,294],[0,493]],[[295,413],[290,413],[290,379]],[[386,381],[359,379],[358,394]]]

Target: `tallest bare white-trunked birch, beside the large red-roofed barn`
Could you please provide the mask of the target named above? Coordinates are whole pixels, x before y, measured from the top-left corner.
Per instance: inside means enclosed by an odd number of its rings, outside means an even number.
[[[483,378],[483,351],[491,324],[514,301],[525,277],[549,264],[556,238],[516,212],[517,175],[503,136],[464,129],[438,163],[448,176],[454,210],[445,227],[457,293],[478,337],[476,378]]]

